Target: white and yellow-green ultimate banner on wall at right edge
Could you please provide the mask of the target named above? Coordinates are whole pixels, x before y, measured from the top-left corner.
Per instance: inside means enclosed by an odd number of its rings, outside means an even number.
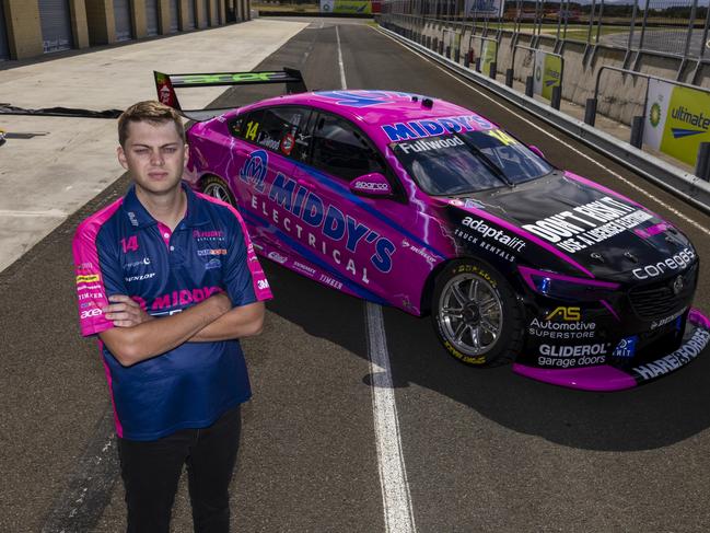
[[[710,94],[649,80],[643,142],[694,165],[701,142],[710,142]]]

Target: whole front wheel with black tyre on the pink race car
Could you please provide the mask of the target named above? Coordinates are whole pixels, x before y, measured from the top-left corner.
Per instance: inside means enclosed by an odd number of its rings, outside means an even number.
[[[446,350],[475,367],[511,361],[523,341],[523,312],[508,281],[474,259],[441,271],[432,299],[434,329]]]

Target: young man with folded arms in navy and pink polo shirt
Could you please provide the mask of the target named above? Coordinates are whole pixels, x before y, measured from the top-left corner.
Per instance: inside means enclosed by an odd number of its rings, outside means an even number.
[[[181,183],[179,116],[140,102],[118,119],[124,198],[84,220],[73,254],[81,333],[98,335],[129,532],[167,532],[183,464],[198,532],[229,531],[240,404],[238,338],[257,335],[268,282],[238,212]]]

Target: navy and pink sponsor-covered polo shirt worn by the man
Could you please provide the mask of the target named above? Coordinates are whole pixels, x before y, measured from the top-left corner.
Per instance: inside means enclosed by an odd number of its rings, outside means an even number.
[[[102,312],[112,294],[128,294],[153,316],[226,291],[234,306],[271,298],[240,213],[183,185],[187,213],[171,231],[128,194],[84,220],[73,240],[81,334],[114,327]],[[100,343],[116,432],[155,440],[211,425],[252,391],[238,340],[185,343],[130,367]]]

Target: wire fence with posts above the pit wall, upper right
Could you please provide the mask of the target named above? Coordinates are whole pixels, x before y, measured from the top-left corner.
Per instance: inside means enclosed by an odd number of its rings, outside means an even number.
[[[589,46],[604,44],[684,59],[708,55],[709,0],[384,0],[382,14],[461,23],[484,35],[503,30]]]

